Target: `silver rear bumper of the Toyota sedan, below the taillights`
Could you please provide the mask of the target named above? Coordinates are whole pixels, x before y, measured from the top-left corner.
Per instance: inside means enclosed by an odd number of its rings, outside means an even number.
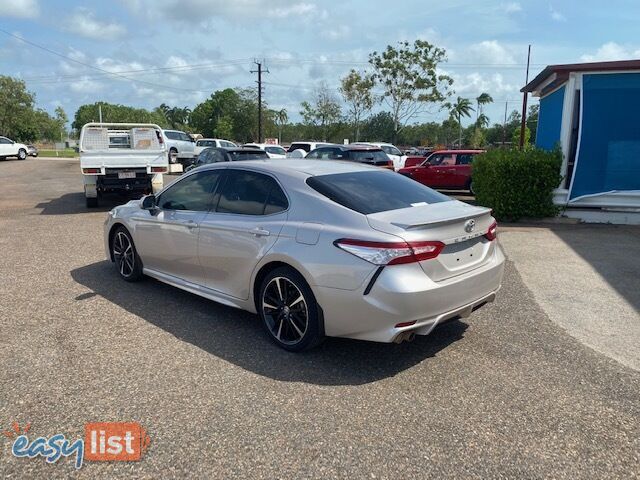
[[[393,342],[408,333],[427,335],[439,323],[466,317],[494,300],[504,273],[504,255],[494,249],[481,267],[440,282],[418,264],[385,267],[365,295],[371,277],[358,290],[315,287],[329,336]],[[396,328],[400,323],[414,322]]]

